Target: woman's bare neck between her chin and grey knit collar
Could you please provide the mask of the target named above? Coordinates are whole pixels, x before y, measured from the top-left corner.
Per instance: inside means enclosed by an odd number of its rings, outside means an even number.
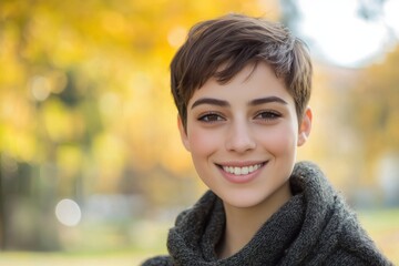
[[[226,258],[239,252],[290,197],[289,182],[286,182],[256,206],[242,208],[224,203],[226,228],[218,244],[218,256]]]

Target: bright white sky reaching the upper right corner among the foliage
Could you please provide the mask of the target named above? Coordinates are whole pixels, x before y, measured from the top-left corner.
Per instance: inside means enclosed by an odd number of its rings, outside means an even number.
[[[311,52],[332,64],[359,68],[382,59],[399,39],[399,0],[386,0],[381,16],[365,20],[360,2],[372,0],[299,0],[299,31]]]

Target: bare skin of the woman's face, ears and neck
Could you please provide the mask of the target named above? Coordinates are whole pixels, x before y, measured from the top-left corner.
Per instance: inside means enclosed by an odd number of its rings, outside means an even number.
[[[186,130],[178,119],[198,176],[224,203],[219,257],[242,249],[291,197],[297,147],[311,127],[310,109],[300,124],[295,110],[284,81],[260,62],[226,84],[209,79],[188,101]]]

